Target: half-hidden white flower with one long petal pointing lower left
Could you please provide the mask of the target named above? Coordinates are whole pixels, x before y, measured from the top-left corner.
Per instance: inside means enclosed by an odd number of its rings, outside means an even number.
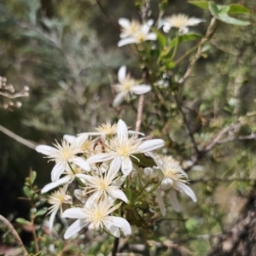
[[[84,173],[82,169],[80,169],[77,166],[72,166],[73,171],[70,169],[69,166],[67,166],[67,171],[64,171],[63,174],[65,174],[64,177],[59,178],[57,181],[53,183],[48,183],[44,186],[43,189],[41,189],[41,193],[44,194],[48,192],[51,189],[55,189],[58,186],[64,185],[64,184],[69,184],[73,182],[73,179],[77,177],[78,173]]]

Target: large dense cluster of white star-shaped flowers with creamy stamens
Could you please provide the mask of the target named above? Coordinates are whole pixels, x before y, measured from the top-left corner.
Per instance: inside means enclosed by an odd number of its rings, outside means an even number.
[[[39,145],[37,151],[55,162],[52,182],[44,186],[42,193],[60,187],[49,196],[49,228],[60,210],[62,218],[77,219],[67,229],[66,239],[84,227],[116,237],[120,232],[129,236],[131,224],[137,224],[137,220],[148,227],[146,215],[137,212],[138,206],[147,214],[149,209],[166,213],[161,195],[166,191],[166,199],[170,201],[170,194],[176,210],[179,205],[173,190],[195,201],[194,192],[185,184],[187,175],[177,161],[152,153],[164,144],[161,139],[148,139],[128,130],[119,119],[117,124],[99,125],[94,132],[66,135],[61,144],[55,143],[55,148]],[[67,192],[74,188],[70,186],[74,182],[79,188]],[[62,213],[63,204],[72,207]]]

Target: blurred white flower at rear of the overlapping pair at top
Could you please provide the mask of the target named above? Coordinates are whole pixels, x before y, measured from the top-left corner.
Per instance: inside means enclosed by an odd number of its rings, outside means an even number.
[[[154,20],[148,20],[147,25],[150,27],[154,23]],[[142,24],[137,20],[128,20],[125,18],[119,19],[119,25],[121,26],[120,38],[131,37],[136,32],[139,32],[142,29]]]

